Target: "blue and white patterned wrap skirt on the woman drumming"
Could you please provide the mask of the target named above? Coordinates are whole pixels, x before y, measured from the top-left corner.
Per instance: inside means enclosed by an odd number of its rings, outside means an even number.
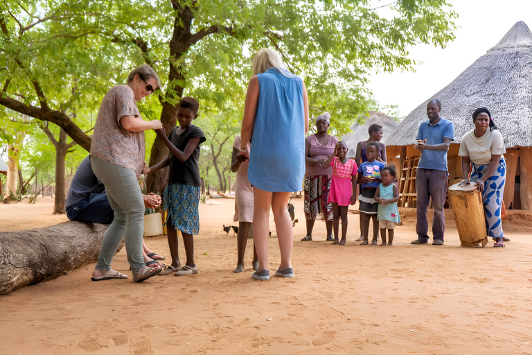
[[[486,171],[488,166],[476,165],[473,163],[473,171],[471,172],[471,181],[475,182],[480,180]],[[482,202],[484,202],[484,218],[486,218],[486,232],[488,236],[492,238],[502,238],[504,233],[502,232],[502,220],[501,220],[501,208],[502,208],[502,196],[504,195],[504,182],[506,182],[506,162],[504,158],[501,158],[497,170],[493,173],[486,184],[484,184],[484,191],[482,191]]]

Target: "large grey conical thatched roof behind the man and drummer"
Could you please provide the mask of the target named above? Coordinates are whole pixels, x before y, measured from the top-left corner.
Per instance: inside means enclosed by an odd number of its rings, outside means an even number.
[[[445,71],[445,68],[441,68]],[[427,87],[427,89],[430,89]],[[471,114],[486,106],[506,148],[532,146],[532,33],[517,22],[502,40],[447,85],[412,111],[387,141],[389,146],[416,143],[431,98],[441,101],[441,115],[454,122],[459,143],[473,128]]]

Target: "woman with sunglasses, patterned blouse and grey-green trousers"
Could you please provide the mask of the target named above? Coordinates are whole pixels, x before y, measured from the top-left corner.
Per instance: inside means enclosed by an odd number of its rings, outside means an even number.
[[[145,266],[142,255],[144,202],[139,176],[145,166],[144,131],[157,130],[161,121],[144,121],[136,107],[161,87],[157,73],[148,64],[127,76],[127,85],[116,85],[105,94],[98,110],[91,143],[91,168],[105,185],[114,220],[105,232],[93,281],[127,279],[111,269],[111,261],[124,239],[133,281],[142,282],[161,272],[161,267]]]

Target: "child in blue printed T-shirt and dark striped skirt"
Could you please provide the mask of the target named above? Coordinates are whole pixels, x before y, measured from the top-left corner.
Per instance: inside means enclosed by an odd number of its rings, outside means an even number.
[[[379,144],[375,141],[369,142],[366,146],[366,157],[368,161],[360,164],[358,167],[357,182],[362,184],[362,191],[358,200],[360,200],[360,215],[362,216],[362,236],[364,241],[362,245],[368,245],[369,220],[373,218],[373,240],[372,245],[377,245],[378,221],[377,209],[378,203],[373,199],[375,190],[380,184],[380,171],[384,168],[384,163],[376,159],[379,154]]]

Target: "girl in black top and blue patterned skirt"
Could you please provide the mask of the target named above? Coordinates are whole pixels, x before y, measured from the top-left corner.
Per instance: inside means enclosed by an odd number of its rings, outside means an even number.
[[[159,138],[170,149],[170,155],[143,172],[151,173],[170,166],[168,183],[163,193],[163,208],[168,213],[166,225],[172,264],[159,275],[173,272],[175,276],[179,276],[198,272],[194,263],[193,235],[199,233],[199,144],[206,140],[202,130],[192,124],[197,118],[198,110],[199,103],[195,98],[181,98],[177,106],[179,126],[170,132],[168,138],[164,129],[156,130]],[[177,252],[177,230],[183,234],[186,252],[186,264],[182,268]]]

